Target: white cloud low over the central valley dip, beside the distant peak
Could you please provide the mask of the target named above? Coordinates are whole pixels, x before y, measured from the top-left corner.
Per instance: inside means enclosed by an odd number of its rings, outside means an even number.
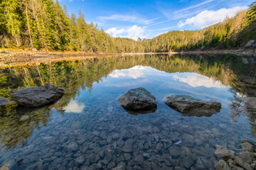
[[[129,28],[110,28],[106,31],[106,33],[110,34],[112,37],[122,37],[122,38],[132,38],[134,40],[137,40],[137,38],[146,38],[144,35],[145,28],[139,27],[139,26],[132,26]]]

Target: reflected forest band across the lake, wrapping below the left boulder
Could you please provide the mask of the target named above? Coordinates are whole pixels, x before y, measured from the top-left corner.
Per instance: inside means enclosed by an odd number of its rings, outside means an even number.
[[[232,55],[215,55],[214,57],[139,55],[102,57],[39,65],[26,64],[0,69],[0,96],[10,99],[11,94],[17,89],[50,83],[65,89],[65,96],[51,106],[64,114],[65,106],[68,106],[70,100],[75,99],[75,96],[80,95],[80,89],[92,91],[92,84],[102,81],[102,78],[107,77],[114,69],[129,69],[136,65],[154,67],[169,73],[196,72],[219,80],[224,85],[233,87],[235,91],[242,91],[243,89],[235,86],[239,81],[238,75],[241,72],[242,74],[247,72],[247,64],[242,63],[239,57]],[[9,148],[23,145],[31,137],[33,128],[39,128],[39,123],[47,125],[50,119],[50,108],[31,111],[28,114],[30,115],[28,121],[21,121],[22,115],[16,114],[15,107],[6,107],[4,108],[5,113],[0,115],[0,130],[3,132],[0,137]],[[231,109],[233,108],[231,107]],[[26,113],[24,114],[26,115]]]

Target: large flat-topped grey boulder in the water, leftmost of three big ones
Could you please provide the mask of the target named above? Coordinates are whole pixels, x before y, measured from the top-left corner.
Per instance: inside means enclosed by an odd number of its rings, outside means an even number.
[[[64,91],[57,86],[45,84],[44,86],[29,87],[17,91],[11,95],[11,99],[21,106],[38,107],[58,100],[65,94]]]

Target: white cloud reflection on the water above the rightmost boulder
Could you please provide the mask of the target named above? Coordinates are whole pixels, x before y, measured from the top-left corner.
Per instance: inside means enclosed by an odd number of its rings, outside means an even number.
[[[174,76],[174,80],[184,82],[190,86],[205,86],[207,88],[225,88],[225,86],[220,81],[214,81],[213,78],[203,76],[201,74],[193,73],[186,76]]]

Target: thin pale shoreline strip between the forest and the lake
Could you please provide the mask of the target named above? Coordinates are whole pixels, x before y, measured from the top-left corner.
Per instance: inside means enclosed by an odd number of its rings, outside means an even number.
[[[95,57],[126,55],[238,55],[256,57],[256,49],[206,50],[181,52],[131,52],[131,53],[90,53],[90,52],[45,52],[45,51],[0,51],[0,67],[16,64],[58,62],[61,60],[85,60]]]

